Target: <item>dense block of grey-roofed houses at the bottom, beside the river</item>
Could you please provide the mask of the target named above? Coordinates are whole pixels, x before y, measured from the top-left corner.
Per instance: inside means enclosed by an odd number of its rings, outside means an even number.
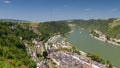
[[[76,53],[70,52],[54,52],[52,54],[52,60],[59,68],[107,68],[89,58],[84,58]]]

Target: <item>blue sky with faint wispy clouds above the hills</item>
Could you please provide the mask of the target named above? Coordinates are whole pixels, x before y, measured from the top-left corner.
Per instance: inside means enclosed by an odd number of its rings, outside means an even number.
[[[0,0],[0,19],[56,21],[120,18],[120,0]]]

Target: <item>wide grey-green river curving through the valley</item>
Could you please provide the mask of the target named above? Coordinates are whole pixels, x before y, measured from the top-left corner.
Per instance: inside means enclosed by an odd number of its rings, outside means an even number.
[[[86,53],[95,53],[120,68],[120,46],[99,41],[91,37],[87,30],[74,29],[67,38],[76,48]]]

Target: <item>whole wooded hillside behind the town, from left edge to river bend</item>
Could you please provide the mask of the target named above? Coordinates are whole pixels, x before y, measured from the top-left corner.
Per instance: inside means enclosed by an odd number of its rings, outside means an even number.
[[[37,30],[37,33],[34,31]],[[0,68],[36,68],[23,41],[47,41],[54,34],[64,35],[70,28],[65,23],[0,22]]]

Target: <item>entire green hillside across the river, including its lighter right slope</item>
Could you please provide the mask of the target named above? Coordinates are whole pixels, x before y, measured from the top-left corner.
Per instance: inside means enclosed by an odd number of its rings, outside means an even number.
[[[90,20],[67,20],[64,21],[67,24],[74,25],[75,28],[96,29],[108,37],[120,39],[120,19],[90,19]]]

